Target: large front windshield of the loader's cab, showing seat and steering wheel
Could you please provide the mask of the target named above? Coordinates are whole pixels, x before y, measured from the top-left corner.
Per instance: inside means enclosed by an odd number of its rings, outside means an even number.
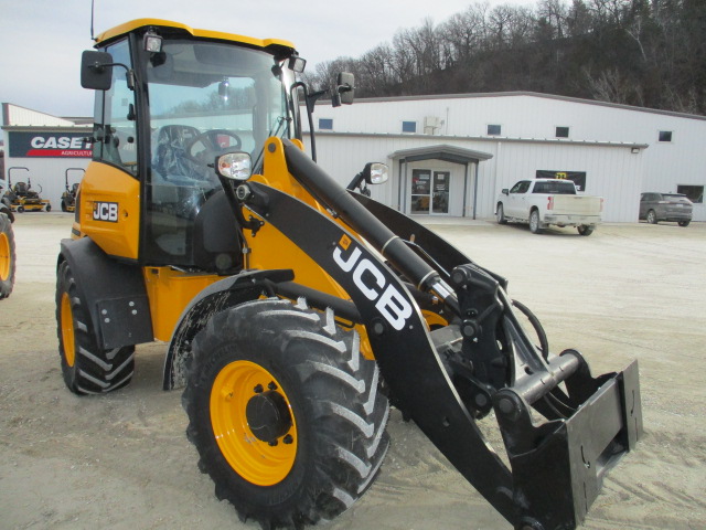
[[[164,40],[150,55],[147,81],[151,170],[141,255],[192,266],[208,237],[200,212],[222,188],[216,157],[248,152],[259,172],[265,140],[296,134],[295,76],[263,50],[184,39]]]

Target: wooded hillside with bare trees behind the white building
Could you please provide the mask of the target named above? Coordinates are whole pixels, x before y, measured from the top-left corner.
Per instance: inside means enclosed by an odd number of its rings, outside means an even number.
[[[530,91],[706,114],[706,0],[473,3],[313,70],[317,87],[353,72],[356,97]]]

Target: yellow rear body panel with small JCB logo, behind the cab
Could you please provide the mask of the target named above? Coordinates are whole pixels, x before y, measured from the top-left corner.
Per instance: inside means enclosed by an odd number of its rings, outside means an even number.
[[[107,254],[137,259],[140,182],[113,166],[90,162],[81,186],[81,235]]]

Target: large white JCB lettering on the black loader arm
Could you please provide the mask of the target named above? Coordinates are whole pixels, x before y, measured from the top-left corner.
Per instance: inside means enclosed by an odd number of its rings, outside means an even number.
[[[375,308],[393,328],[400,331],[411,316],[411,306],[394,285],[385,288],[385,275],[366,257],[361,259],[361,248],[351,243],[351,239],[343,235],[333,250],[333,261],[344,272],[353,272],[353,283],[359,290],[368,300],[377,300]],[[347,256],[343,256],[343,252]]]

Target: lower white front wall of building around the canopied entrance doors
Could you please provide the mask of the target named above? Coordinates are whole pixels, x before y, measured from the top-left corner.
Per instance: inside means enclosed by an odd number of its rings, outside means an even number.
[[[342,186],[347,184],[368,161],[387,163],[392,179],[386,184],[372,187],[372,197],[402,209],[398,183],[404,167],[400,168],[391,155],[398,150],[439,144],[492,155],[490,160],[481,161],[478,166],[477,218],[492,218],[496,197],[503,188],[511,188],[517,180],[534,178],[536,170],[544,169],[586,171],[585,193],[606,199],[605,221],[638,220],[644,150],[633,153],[629,146],[321,132],[317,136],[317,152],[319,163]],[[414,167],[452,168],[452,178],[457,182],[464,174],[463,166],[441,161],[410,163],[410,168]],[[473,166],[469,165],[466,211],[469,216],[473,214],[474,172]],[[410,169],[408,176],[411,176]]]

